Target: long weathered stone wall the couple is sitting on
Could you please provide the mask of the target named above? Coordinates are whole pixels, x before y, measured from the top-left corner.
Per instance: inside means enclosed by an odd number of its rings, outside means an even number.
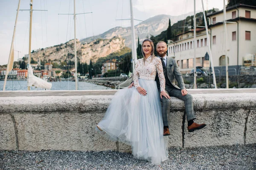
[[[207,124],[193,133],[186,129],[184,102],[172,98],[169,147],[256,143],[255,97],[256,93],[193,94],[196,122]],[[131,152],[131,147],[109,141],[94,130],[112,98],[113,95],[0,97],[0,150]]]

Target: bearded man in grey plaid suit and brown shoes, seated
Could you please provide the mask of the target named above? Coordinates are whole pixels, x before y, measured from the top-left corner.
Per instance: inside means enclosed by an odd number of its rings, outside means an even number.
[[[195,113],[193,108],[193,98],[185,88],[185,84],[183,81],[183,77],[179,71],[179,66],[175,59],[168,57],[166,55],[167,52],[167,44],[163,41],[157,43],[157,55],[161,59],[163,64],[163,73],[166,79],[166,88],[165,91],[169,96],[179,98],[185,102],[185,112],[186,118],[188,121],[188,131],[193,132],[194,130],[200,130],[206,126],[206,124],[197,124],[193,120],[195,120]],[[178,85],[175,85],[174,78],[177,80]],[[157,88],[160,91],[160,81],[158,75],[156,76]],[[131,83],[129,88],[133,86],[134,83]],[[170,135],[169,132],[169,114],[171,107],[171,99],[162,98],[162,114],[163,114],[163,135]]]

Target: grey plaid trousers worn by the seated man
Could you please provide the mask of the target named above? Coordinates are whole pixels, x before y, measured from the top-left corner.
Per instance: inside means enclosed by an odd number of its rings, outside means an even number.
[[[170,97],[175,97],[185,102],[185,112],[187,121],[195,119],[194,105],[193,105],[193,97],[189,93],[187,95],[182,95],[181,90],[175,87],[171,87],[166,85],[165,91],[169,94]],[[163,97],[161,100],[162,105],[162,115],[163,115],[163,126],[168,126],[169,115],[170,115],[170,107],[171,107],[171,99],[166,99]]]

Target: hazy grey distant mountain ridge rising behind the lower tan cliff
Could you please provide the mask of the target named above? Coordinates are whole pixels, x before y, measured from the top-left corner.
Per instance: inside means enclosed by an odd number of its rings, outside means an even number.
[[[186,14],[186,16],[190,16],[192,14],[193,12],[190,12]],[[136,39],[139,36],[140,40],[143,41],[146,37],[150,37],[151,35],[159,35],[161,32],[167,29],[169,19],[171,19],[171,23],[174,24],[179,20],[183,20],[184,18],[184,15],[171,16],[166,14],[156,15],[154,17],[148,18],[145,20],[146,22],[141,22],[135,26]],[[102,33],[101,35],[81,39],[80,42],[88,43],[98,38],[110,39],[118,35],[125,39],[125,46],[131,47],[131,27],[123,28],[118,26]]]

